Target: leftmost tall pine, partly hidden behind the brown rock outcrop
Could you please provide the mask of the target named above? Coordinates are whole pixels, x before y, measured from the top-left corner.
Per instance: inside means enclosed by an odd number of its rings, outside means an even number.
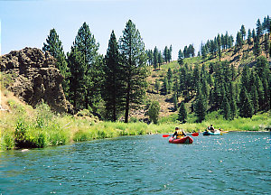
[[[42,51],[48,51],[51,56],[53,56],[56,62],[56,68],[61,71],[61,75],[63,76],[62,80],[62,88],[67,97],[69,97],[69,76],[70,72],[68,69],[68,62],[66,60],[66,56],[63,50],[62,42],[59,38],[58,33],[55,29],[51,29],[46,42],[43,42]]]

